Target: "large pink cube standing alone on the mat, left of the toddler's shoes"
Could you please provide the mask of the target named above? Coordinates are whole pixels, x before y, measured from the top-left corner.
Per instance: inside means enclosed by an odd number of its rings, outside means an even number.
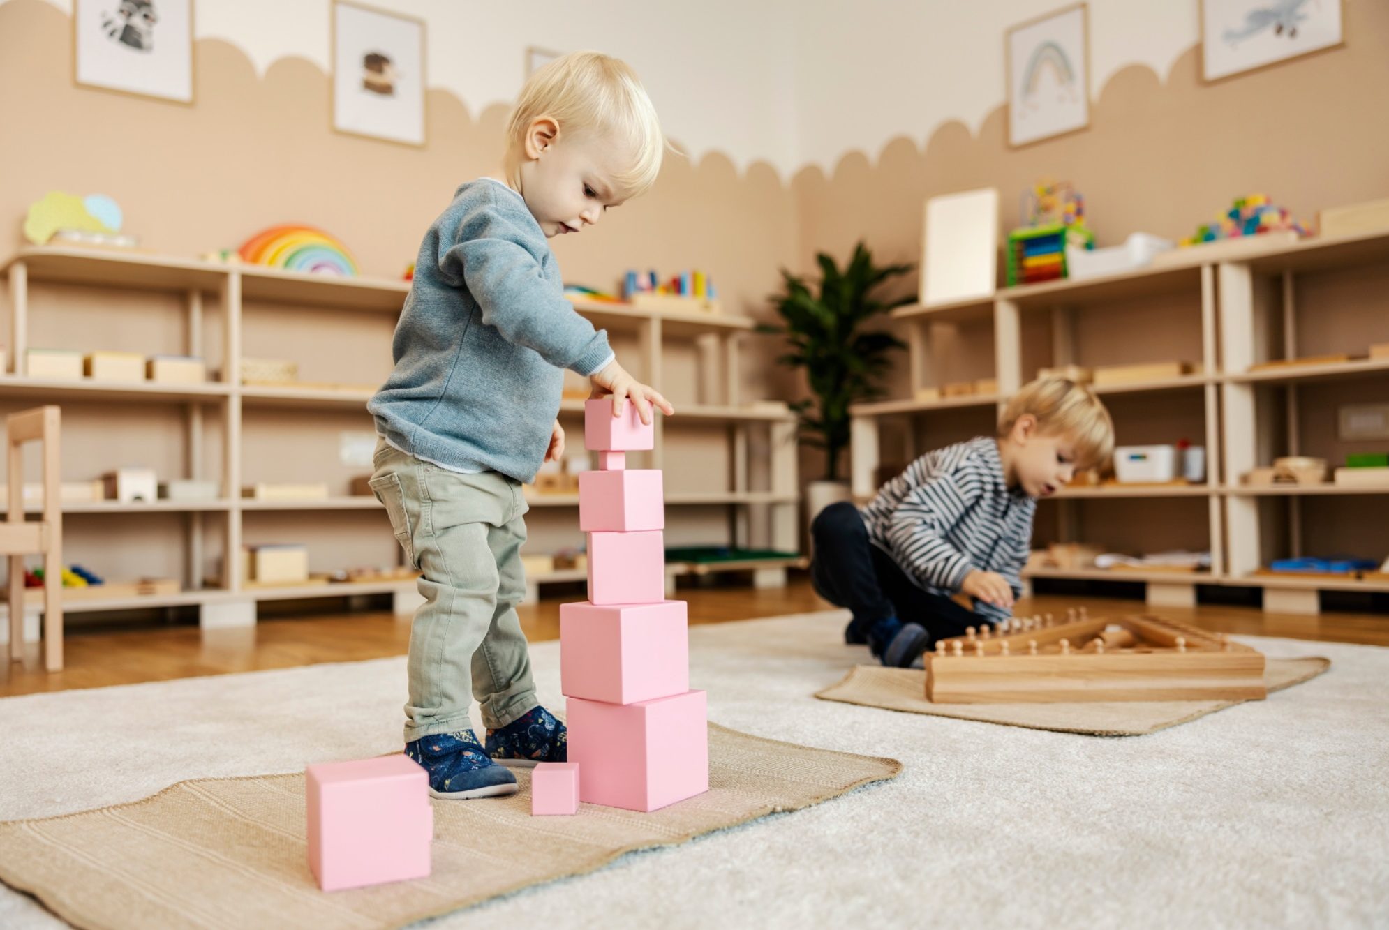
[[[429,776],[404,755],[304,769],[308,868],[324,891],[429,874]]]

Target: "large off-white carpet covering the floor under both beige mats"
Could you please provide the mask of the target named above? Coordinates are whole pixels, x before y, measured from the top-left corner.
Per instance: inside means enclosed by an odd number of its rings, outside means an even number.
[[[1389,926],[1389,650],[1245,639],[1332,668],[1099,738],[817,701],[861,658],[842,629],[839,612],[693,627],[692,683],[718,723],[893,756],[895,781],[438,926]],[[533,662],[561,704],[558,644]],[[0,819],[392,751],[403,700],[403,658],[7,698]],[[0,887],[0,927],[58,924]]]

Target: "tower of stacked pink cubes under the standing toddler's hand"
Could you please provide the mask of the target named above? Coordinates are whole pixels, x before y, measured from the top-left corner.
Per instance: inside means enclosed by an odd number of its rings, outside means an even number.
[[[579,800],[654,811],[708,791],[704,691],[689,687],[685,601],[665,600],[661,472],[628,469],[654,447],[628,401],[590,400],[583,444],[599,469],[579,475],[589,600],[560,608],[560,683],[568,698],[569,762]]]

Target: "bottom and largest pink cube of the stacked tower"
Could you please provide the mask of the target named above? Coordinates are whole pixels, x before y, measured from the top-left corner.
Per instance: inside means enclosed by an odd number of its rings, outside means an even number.
[[[638,704],[569,698],[568,711],[581,801],[656,811],[708,791],[704,691]]]

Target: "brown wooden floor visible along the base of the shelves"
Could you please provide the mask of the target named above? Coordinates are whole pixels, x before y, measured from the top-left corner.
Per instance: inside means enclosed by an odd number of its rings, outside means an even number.
[[[690,622],[721,623],[758,616],[778,616],[829,608],[806,580],[774,590],[682,589]],[[521,625],[532,641],[560,634],[560,604],[568,597],[521,608]],[[1320,618],[1263,614],[1250,608],[1197,607],[1149,611],[1136,601],[1043,595],[1020,602],[1017,614],[1064,611],[1085,605],[1092,616],[1124,612],[1157,612],[1186,619],[1222,633],[1286,636],[1306,640],[1389,645],[1389,616],[1374,614],[1324,614]],[[46,673],[38,644],[29,644],[24,662],[0,665],[0,697],[106,684],[161,682],[199,675],[225,675],[282,669],[319,662],[354,662],[404,655],[410,644],[408,620],[390,614],[339,614],[263,619],[242,630],[200,630],[196,625],[153,629],[76,629],[67,637],[67,668]],[[867,651],[845,651],[845,663],[863,661]]]

